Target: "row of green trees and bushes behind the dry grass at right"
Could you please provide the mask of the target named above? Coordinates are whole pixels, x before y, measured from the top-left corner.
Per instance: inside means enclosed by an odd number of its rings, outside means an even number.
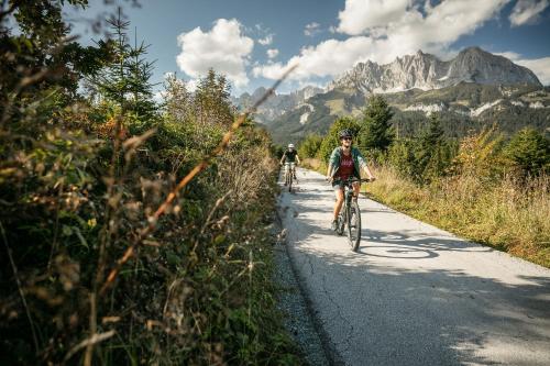
[[[472,164],[470,158],[495,163],[491,164],[495,178],[505,174],[537,177],[550,171],[550,138],[536,129],[525,127],[506,135],[487,125],[460,138],[446,134],[441,117],[432,113],[416,133],[397,137],[393,115],[384,97],[373,95],[360,118],[339,118],[326,136],[307,136],[299,145],[300,156],[327,162],[332,148],[339,145],[339,131],[349,129],[358,147],[371,159],[394,167],[420,186],[463,170]]]

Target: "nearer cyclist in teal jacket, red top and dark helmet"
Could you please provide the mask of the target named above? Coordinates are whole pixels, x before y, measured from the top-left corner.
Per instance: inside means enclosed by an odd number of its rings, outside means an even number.
[[[376,178],[372,174],[366,159],[361,155],[359,148],[352,146],[353,134],[350,130],[342,130],[340,132],[340,143],[341,146],[336,147],[330,154],[329,167],[327,169],[327,179],[332,182],[334,188],[334,193],[337,196],[337,201],[334,202],[334,217],[332,220],[332,230],[337,229],[338,214],[342,208],[344,200],[344,190],[342,181],[348,179],[350,176],[361,178],[361,169],[366,173],[370,180],[375,180]],[[353,184],[353,196],[356,199],[361,185],[359,182]]]

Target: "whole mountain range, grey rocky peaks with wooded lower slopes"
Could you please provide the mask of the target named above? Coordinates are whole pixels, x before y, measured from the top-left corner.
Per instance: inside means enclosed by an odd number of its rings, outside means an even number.
[[[234,102],[248,107],[265,91],[244,93]],[[361,114],[372,93],[384,95],[394,109],[394,125],[408,134],[433,112],[455,135],[488,123],[508,132],[550,126],[549,88],[528,68],[480,47],[465,48],[450,60],[418,51],[386,65],[359,63],[324,89],[274,93],[255,118],[276,143],[298,142],[307,134],[324,133],[339,115]]]

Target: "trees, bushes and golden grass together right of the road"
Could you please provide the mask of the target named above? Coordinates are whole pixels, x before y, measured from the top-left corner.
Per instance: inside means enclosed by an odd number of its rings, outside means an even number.
[[[361,118],[339,118],[323,137],[308,136],[300,157],[320,173],[338,132],[375,165],[370,195],[402,212],[472,241],[550,267],[550,138],[525,127],[505,135],[495,126],[450,137],[441,118],[398,138],[392,110],[373,96]],[[497,122],[497,121],[495,121]],[[495,123],[497,125],[497,123]]]

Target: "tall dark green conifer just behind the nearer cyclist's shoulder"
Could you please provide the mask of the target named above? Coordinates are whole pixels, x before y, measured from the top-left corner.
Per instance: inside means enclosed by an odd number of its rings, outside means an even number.
[[[383,153],[387,151],[395,136],[389,122],[393,115],[394,113],[382,96],[373,95],[369,98],[363,110],[359,135],[360,146],[363,151],[374,149]]]

